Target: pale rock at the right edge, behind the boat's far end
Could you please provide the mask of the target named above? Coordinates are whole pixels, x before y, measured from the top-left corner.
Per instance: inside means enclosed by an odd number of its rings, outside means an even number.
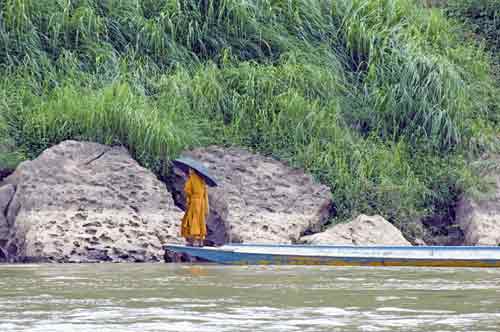
[[[500,172],[496,172],[491,195],[484,199],[464,196],[458,202],[456,223],[464,232],[465,245],[500,245]]]

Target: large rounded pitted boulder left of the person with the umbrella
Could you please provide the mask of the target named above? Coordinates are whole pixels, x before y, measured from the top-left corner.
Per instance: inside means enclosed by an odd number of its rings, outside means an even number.
[[[182,211],[165,185],[124,148],[66,141],[5,182],[11,260],[161,261],[179,242]]]

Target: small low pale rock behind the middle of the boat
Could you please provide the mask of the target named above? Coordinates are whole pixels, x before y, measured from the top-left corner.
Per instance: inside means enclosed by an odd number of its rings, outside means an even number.
[[[322,233],[304,236],[306,244],[332,245],[389,245],[410,246],[401,232],[381,216],[360,215],[356,219],[337,224]]]

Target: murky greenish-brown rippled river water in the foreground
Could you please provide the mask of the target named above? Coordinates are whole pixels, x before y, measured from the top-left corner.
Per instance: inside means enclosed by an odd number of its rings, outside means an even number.
[[[0,331],[500,331],[500,269],[0,265]]]

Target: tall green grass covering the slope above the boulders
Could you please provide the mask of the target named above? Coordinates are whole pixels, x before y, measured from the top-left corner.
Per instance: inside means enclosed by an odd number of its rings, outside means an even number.
[[[0,133],[26,157],[120,143],[161,175],[183,149],[241,145],[315,174],[338,219],[380,213],[418,235],[498,143],[488,57],[412,0],[0,9]]]

